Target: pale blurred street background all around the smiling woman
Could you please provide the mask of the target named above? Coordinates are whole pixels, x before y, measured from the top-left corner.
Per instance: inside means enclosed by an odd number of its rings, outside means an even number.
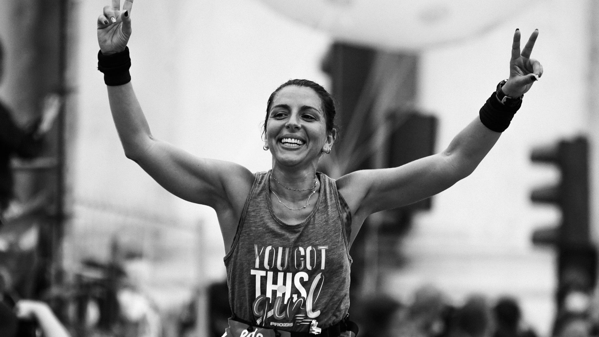
[[[73,336],[220,336],[216,215],[125,158],[97,70],[105,5],[0,3],[2,104],[24,130],[53,121],[35,155],[5,151],[0,290],[49,303]],[[442,151],[509,76],[514,30],[538,28],[545,73],[479,168],[362,227],[350,314],[366,336],[597,335],[597,1],[140,0],[131,15],[156,137],[268,170],[267,98],[310,79],[338,100],[320,167],[335,178]]]

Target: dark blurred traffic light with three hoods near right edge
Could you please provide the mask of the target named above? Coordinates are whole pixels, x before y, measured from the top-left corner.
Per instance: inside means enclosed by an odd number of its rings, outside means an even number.
[[[597,278],[597,249],[589,235],[588,141],[585,137],[560,140],[554,145],[533,149],[531,160],[558,167],[559,183],[534,189],[531,200],[555,204],[561,221],[554,227],[538,228],[533,243],[556,249],[556,318],[553,334],[568,321],[586,317]]]

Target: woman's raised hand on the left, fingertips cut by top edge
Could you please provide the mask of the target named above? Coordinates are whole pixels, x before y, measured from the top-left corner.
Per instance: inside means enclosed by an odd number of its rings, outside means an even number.
[[[120,0],[112,0],[111,6],[104,7],[98,17],[98,44],[104,55],[125,50],[131,37],[131,7],[133,0],[125,0],[120,10]]]

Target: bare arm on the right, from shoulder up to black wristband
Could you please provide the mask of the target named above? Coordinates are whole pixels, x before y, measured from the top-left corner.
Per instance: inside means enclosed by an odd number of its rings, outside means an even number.
[[[443,152],[391,169],[356,171],[338,179],[337,184],[352,212],[365,219],[371,213],[415,203],[449,188],[472,173],[500,134],[475,118]]]

